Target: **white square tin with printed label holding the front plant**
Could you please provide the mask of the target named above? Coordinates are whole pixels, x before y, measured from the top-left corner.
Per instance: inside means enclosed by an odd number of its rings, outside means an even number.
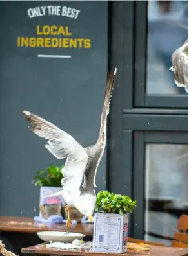
[[[93,251],[125,253],[129,214],[95,213]]]

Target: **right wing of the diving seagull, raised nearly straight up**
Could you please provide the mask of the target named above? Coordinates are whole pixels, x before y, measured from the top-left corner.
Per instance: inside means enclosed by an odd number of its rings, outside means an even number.
[[[110,111],[110,100],[112,97],[112,91],[114,89],[115,76],[117,73],[117,68],[115,68],[114,72],[108,73],[108,77],[106,80],[106,91],[104,97],[104,107],[103,113],[101,114],[101,128],[99,132],[99,138],[97,139],[97,143],[95,145],[85,148],[89,161],[86,166],[85,175],[83,178],[83,189],[86,187],[96,187],[95,185],[95,177],[97,172],[97,167],[101,161],[101,158],[104,153],[104,148],[106,146],[106,124],[107,117]]]

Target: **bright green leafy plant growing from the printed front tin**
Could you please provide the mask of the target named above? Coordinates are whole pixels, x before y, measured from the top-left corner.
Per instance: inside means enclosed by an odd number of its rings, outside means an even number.
[[[124,213],[134,211],[137,206],[137,201],[132,201],[129,196],[121,194],[111,194],[109,191],[100,191],[97,194],[97,201],[95,204],[95,211],[103,213]]]

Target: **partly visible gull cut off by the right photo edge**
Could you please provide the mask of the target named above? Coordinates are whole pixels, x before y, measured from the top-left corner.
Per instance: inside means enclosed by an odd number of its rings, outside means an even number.
[[[188,39],[183,46],[175,50],[170,70],[174,71],[175,84],[178,87],[184,87],[188,93]]]

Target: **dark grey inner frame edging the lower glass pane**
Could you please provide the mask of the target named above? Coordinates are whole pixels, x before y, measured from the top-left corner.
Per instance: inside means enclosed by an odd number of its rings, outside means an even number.
[[[135,237],[144,237],[144,213],[145,213],[145,151],[146,144],[188,144],[188,131],[185,132],[151,132],[134,131],[134,198],[140,211],[134,211],[132,232]],[[142,181],[142,182],[141,182]],[[141,218],[142,216],[142,218]],[[141,221],[143,220],[143,221]],[[137,224],[137,225],[136,225]]]

